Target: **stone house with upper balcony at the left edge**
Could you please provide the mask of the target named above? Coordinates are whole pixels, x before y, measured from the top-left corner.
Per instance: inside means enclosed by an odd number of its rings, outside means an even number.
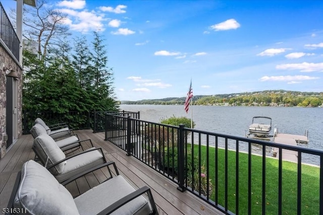
[[[0,1],[0,159],[22,134],[22,12],[36,7],[36,0],[15,1],[16,29]]]

